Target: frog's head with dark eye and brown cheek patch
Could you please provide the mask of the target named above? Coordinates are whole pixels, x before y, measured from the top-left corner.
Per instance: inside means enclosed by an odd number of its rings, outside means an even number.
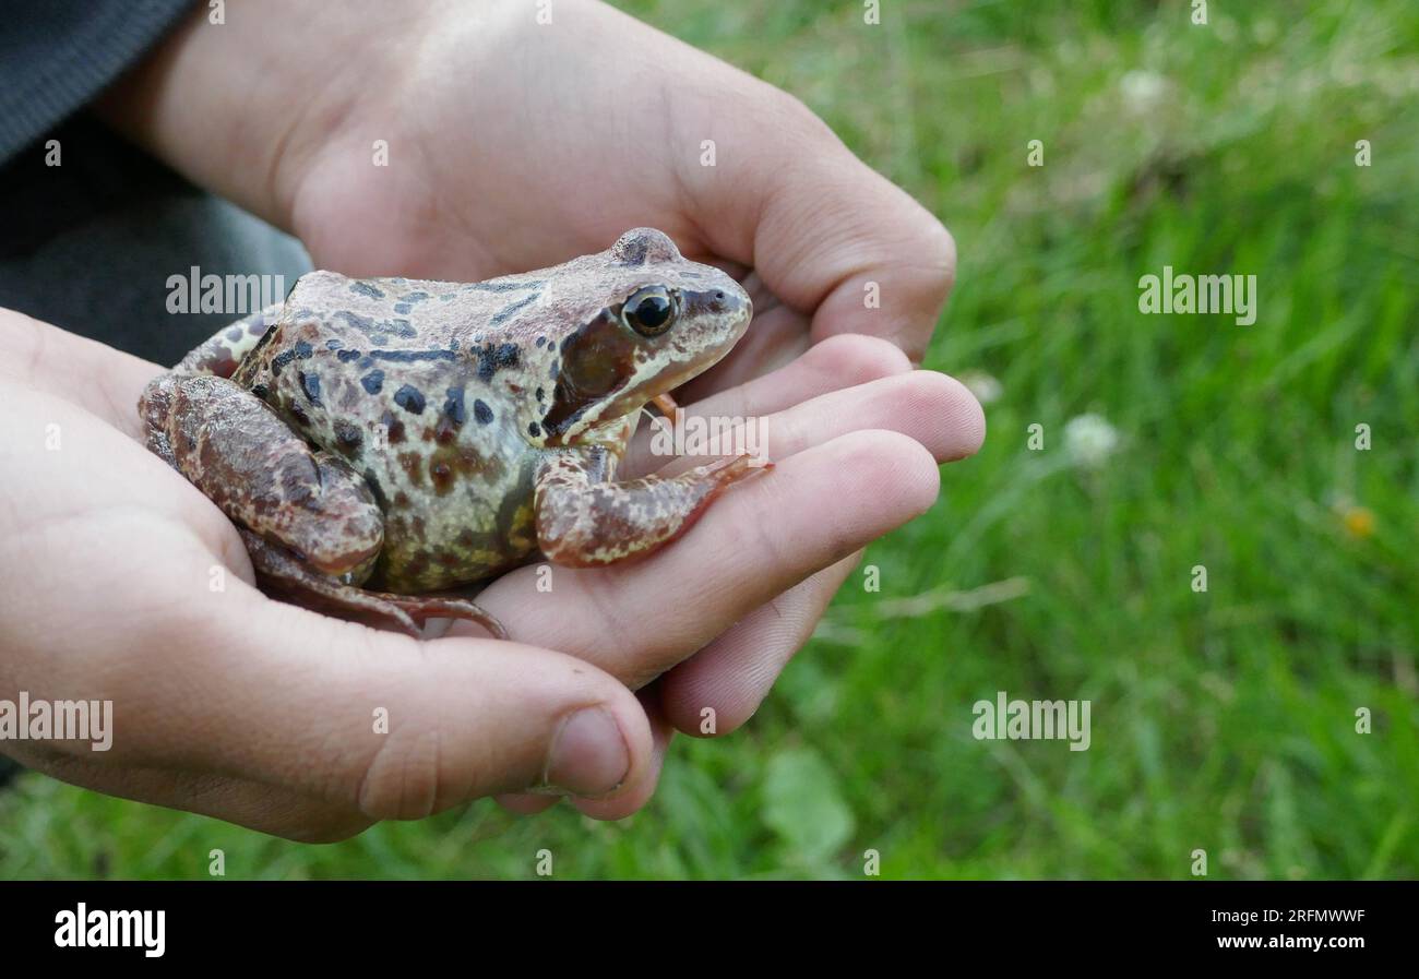
[[[572,443],[707,370],[753,316],[734,278],[683,258],[654,228],[562,265],[549,285],[575,315],[556,346],[555,396],[541,423],[549,443]]]

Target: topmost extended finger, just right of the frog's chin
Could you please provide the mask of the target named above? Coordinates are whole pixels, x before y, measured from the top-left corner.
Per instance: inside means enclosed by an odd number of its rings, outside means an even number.
[[[911,370],[911,362],[897,346],[876,336],[844,333],[809,348],[803,356],[771,375],[724,390],[705,389],[702,399],[683,410],[685,417],[759,417],[907,370]],[[623,465],[631,477],[664,464],[663,458],[650,454],[651,431],[651,426],[640,426],[626,451]]]

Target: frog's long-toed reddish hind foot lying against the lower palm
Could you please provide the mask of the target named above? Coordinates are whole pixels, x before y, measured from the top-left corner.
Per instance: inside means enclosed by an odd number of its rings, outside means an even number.
[[[240,533],[263,589],[275,592],[302,607],[369,626],[394,629],[413,638],[423,636],[426,619],[465,619],[482,626],[494,638],[508,637],[508,630],[495,616],[467,599],[392,594],[342,585],[314,572],[281,545],[271,543],[247,529],[240,529]]]

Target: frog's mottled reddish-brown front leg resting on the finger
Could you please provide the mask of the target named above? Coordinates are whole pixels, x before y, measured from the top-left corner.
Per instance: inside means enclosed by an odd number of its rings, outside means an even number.
[[[739,455],[627,482],[609,482],[610,468],[602,448],[562,450],[538,467],[536,533],[549,560],[592,568],[648,555],[688,531],[729,484],[768,465]]]

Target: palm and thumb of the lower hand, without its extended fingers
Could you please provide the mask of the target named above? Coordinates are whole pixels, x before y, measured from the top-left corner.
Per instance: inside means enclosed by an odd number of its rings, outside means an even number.
[[[155,372],[0,311],[0,691],[112,704],[108,751],[7,753],[302,840],[648,778],[646,714],[603,670],[525,643],[419,643],[257,592],[227,518],[136,440]]]

